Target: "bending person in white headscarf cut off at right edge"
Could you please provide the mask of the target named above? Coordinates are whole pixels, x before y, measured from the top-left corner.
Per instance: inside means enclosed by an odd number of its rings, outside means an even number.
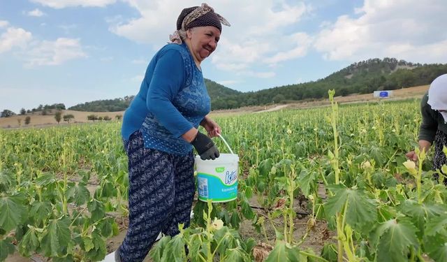
[[[440,75],[428,89],[420,102],[422,124],[419,130],[419,149],[427,152],[434,143],[433,169],[441,170],[447,164],[443,148],[447,147],[447,74]],[[410,160],[417,161],[414,151],[406,154]],[[447,175],[447,174],[446,174]],[[447,180],[444,180],[447,184]]]

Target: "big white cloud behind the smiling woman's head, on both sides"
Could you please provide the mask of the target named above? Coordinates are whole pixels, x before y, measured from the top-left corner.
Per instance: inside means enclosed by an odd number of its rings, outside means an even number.
[[[182,8],[197,6],[191,0],[123,0],[138,10],[140,17],[110,21],[110,31],[138,43],[160,48],[175,30]],[[290,32],[311,8],[305,3],[288,4],[286,0],[215,0],[208,1],[217,13],[226,17],[231,27],[223,26],[219,46],[212,54],[212,64],[222,70],[258,78],[274,73],[252,72],[253,65],[268,66],[304,56],[310,37]],[[175,8],[173,8],[175,6]],[[237,8],[235,8],[237,7]],[[113,22],[112,22],[113,21]]]

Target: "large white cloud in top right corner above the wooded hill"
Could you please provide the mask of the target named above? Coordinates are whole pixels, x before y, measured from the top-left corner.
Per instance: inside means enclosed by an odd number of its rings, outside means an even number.
[[[343,15],[316,36],[314,48],[329,60],[396,57],[409,61],[447,59],[444,0],[365,0],[357,17]]]

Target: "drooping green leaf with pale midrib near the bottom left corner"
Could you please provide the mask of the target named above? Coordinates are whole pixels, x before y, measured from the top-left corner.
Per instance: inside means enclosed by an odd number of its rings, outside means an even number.
[[[68,242],[71,241],[71,233],[68,229],[70,219],[50,219],[41,240],[41,249],[45,256],[64,256]]]

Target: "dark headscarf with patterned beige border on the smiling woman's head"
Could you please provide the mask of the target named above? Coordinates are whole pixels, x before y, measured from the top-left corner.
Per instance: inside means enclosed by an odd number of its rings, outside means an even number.
[[[193,27],[216,27],[222,31],[222,25],[230,27],[230,23],[218,13],[214,13],[214,9],[206,3],[202,6],[193,6],[184,8],[177,19],[177,30],[169,36],[169,40],[173,43],[182,44],[182,38],[179,31],[186,31]]]

